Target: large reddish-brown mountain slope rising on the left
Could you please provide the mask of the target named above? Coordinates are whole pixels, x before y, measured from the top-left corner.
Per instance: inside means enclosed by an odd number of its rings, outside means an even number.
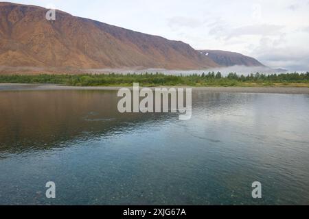
[[[0,3],[0,66],[53,68],[216,67],[214,61],[179,41],[107,25],[47,9]]]

